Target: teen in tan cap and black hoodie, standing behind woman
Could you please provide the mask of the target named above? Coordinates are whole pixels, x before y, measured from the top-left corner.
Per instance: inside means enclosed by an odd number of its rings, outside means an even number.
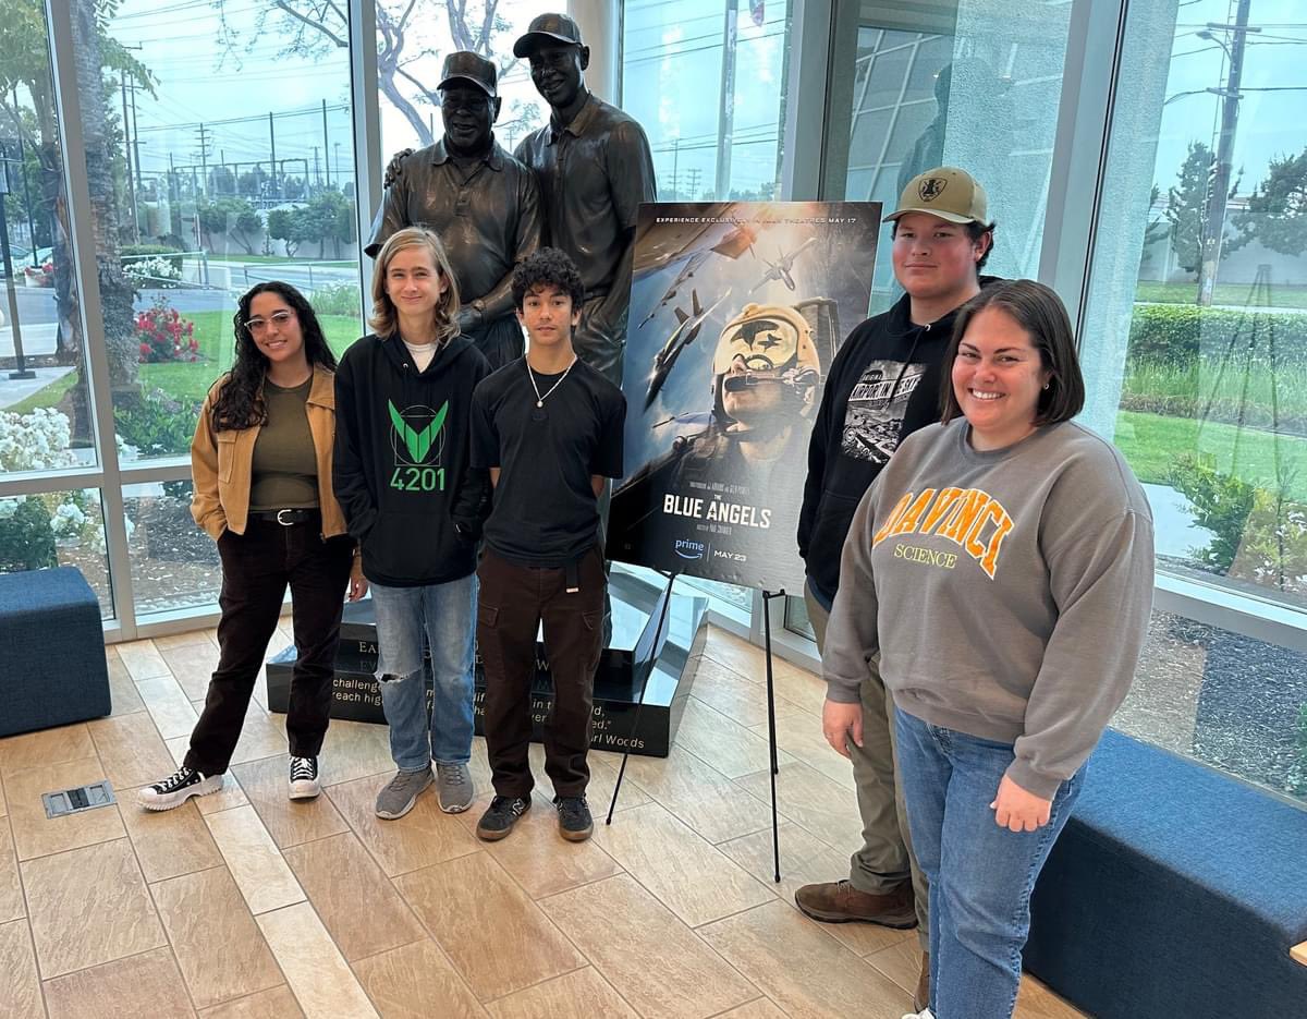
[[[899,442],[940,420],[940,358],[954,317],[991,281],[980,276],[993,245],[987,204],[984,188],[968,173],[940,166],[912,178],[886,216],[894,222],[894,277],[906,293],[839,348],[808,447],[797,538],[818,648],[826,642],[853,511]],[[928,889],[907,845],[895,790],[893,710],[874,662],[868,663],[860,704],[826,701],[822,731],[852,759],[864,842],[850,859],[847,880],[805,884],[795,901],[823,922],[919,926],[923,959],[914,1006],[920,1011],[929,998]]]

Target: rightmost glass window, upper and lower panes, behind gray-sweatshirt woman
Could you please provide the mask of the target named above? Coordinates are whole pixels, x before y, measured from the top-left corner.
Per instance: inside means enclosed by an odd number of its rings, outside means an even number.
[[[1307,610],[1300,13],[1291,0],[1131,7],[1082,318],[1085,417],[1148,491],[1158,569],[1255,615]],[[1166,658],[1197,661],[1172,691],[1197,719],[1180,748],[1302,795],[1300,658],[1161,613],[1154,630]],[[1174,683],[1145,666],[1137,696]]]

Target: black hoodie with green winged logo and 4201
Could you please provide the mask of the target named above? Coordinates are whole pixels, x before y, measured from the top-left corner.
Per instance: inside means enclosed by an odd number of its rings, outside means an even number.
[[[468,423],[488,374],[461,337],[423,371],[399,336],[363,336],[341,358],[332,487],[369,581],[420,587],[476,570],[490,479],[471,467]]]

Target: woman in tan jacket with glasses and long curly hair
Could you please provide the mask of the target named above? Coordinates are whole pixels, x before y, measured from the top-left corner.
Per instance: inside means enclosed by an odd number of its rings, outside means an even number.
[[[235,335],[235,364],[209,390],[191,443],[191,515],[222,559],[218,667],[182,767],[140,791],[146,810],[222,787],[288,583],[290,798],[316,797],[341,595],[367,591],[332,493],[336,358],[318,317],[294,286],[261,283],[240,298]]]

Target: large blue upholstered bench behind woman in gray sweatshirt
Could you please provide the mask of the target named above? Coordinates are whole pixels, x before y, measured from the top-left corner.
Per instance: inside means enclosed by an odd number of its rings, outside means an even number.
[[[1031,901],[1026,965],[1100,1019],[1307,1016],[1307,810],[1108,731]]]

